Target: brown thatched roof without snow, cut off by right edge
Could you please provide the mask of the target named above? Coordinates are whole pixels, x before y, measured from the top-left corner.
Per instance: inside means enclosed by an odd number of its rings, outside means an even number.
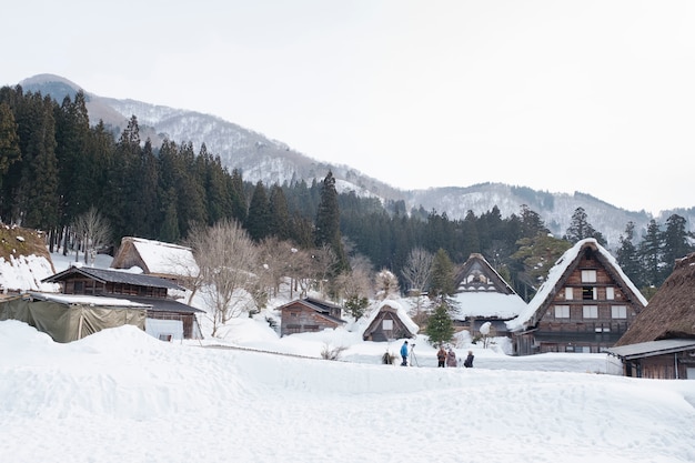
[[[673,273],[615,344],[695,339],[695,253],[676,261]]]

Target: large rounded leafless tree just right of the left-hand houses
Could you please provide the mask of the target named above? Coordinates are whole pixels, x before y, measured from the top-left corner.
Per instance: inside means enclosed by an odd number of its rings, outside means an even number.
[[[205,283],[201,294],[212,310],[212,335],[248,311],[258,288],[258,250],[235,221],[221,221],[191,240]]]

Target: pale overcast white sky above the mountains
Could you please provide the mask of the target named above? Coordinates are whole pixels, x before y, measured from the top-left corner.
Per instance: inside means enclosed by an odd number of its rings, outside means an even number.
[[[39,73],[219,115],[394,187],[695,205],[695,2],[13,1]]]

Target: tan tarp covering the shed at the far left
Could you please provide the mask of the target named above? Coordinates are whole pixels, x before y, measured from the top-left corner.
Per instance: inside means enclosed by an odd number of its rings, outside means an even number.
[[[49,334],[56,342],[77,341],[124,324],[144,331],[145,314],[145,308],[64,304],[22,296],[0,301],[0,321],[19,320]]]

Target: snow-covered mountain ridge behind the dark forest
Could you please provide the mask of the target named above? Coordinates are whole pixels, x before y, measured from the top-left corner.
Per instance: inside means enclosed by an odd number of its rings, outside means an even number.
[[[64,78],[40,74],[20,82],[26,91],[50,93],[57,101],[64,95],[73,97],[80,87]],[[204,142],[208,152],[220,155],[223,165],[240,169],[244,180],[264,184],[282,184],[293,180],[305,180],[309,184],[322,180],[329,170],[336,178],[340,191],[354,190],[360,195],[375,195],[384,200],[403,200],[407,209],[423,207],[426,211],[446,213],[450,219],[462,219],[469,211],[476,215],[497,205],[502,217],[518,213],[522,205],[537,212],[556,235],[565,233],[576,208],[586,211],[594,229],[608,240],[608,248],[618,245],[618,238],[627,222],[636,224],[637,233],[645,230],[648,221],[655,219],[664,224],[672,213],[684,217],[691,230],[695,230],[695,207],[663,211],[652,217],[645,211],[627,211],[608,204],[587,193],[574,194],[537,191],[527,187],[502,183],[481,183],[471,187],[431,188],[404,191],[344,164],[322,162],[292,150],[285,143],[262,133],[242,128],[212,114],[154,105],[142,101],[118,100],[100,97],[83,89],[88,98],[88,111],[93,123],[103,120],[118,134],[127,127],[134,114],[140,124],[140,134],[150,138],[159,147],[164,138],[177,143],[193,144],[199,150]]]

